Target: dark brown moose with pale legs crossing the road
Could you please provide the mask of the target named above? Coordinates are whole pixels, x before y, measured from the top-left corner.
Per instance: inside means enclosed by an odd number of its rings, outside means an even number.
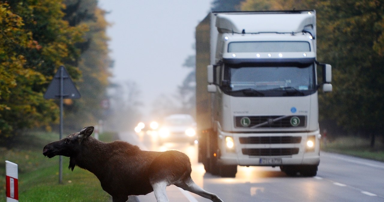
[[[129,195],[155,194],[157,202],[167,202],[166,187],[174,184],[214,202],[223,202],[192,180],[191,163],[180,151],[143,151],[136,145],[116,140],[104,143],[91,136],[94,127],[46,145],[43,155],[70,158],[68,169],[75,166],[92,172],[113,202],[126,202]]]

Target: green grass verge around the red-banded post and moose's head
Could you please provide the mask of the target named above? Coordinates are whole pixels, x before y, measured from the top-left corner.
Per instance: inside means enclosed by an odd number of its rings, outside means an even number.
[[[59,184],[59,157],[48,159],[43,147],[58,139],[56,133],[34,132],[18,140],[12,149],[0,148],[0,202],[5,202],[5,160],[18,164],[19,200],[23,202],[99,202],[110,201],[100,182],[91,172],[68,168],[69,158],[63,157],[63,183]],[[114,140],[113,133],[103,133],[104,142]]]

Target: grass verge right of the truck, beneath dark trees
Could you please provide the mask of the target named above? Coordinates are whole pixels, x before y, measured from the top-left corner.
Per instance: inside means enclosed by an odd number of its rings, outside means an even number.
[[[375,146],[372,148],[368,139],[351,136],[339,137],[326,143],[323,141],[321,149],[384,162],[384,144],[380,139],[376,140]]]

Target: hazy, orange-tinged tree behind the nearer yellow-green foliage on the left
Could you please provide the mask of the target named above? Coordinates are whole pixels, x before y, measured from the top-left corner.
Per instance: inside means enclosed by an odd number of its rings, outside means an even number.
[[[65,105],[66,128],[81,128],[94,125],[104,117],[102,100],[107,99],[106,89],[109,85],[108,40],[106,29],[109,23],[105,20],[106,12],[97,7],[96,0],[66,0],[64,19],[72,26],[85,24],[88,31],[84,34],[84,42],[76,43],[81,56],[76,62],[82,77],[78,80],[78,88],[82,95],[79,100],[72,100]],[[82,117],[81,119],[76,117]]]

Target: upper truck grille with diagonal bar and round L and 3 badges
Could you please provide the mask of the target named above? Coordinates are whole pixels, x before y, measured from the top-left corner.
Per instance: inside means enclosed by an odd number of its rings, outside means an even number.
[[[306,126],[305,115],[301,116],[238,116],[236,128],[294,128]]]

